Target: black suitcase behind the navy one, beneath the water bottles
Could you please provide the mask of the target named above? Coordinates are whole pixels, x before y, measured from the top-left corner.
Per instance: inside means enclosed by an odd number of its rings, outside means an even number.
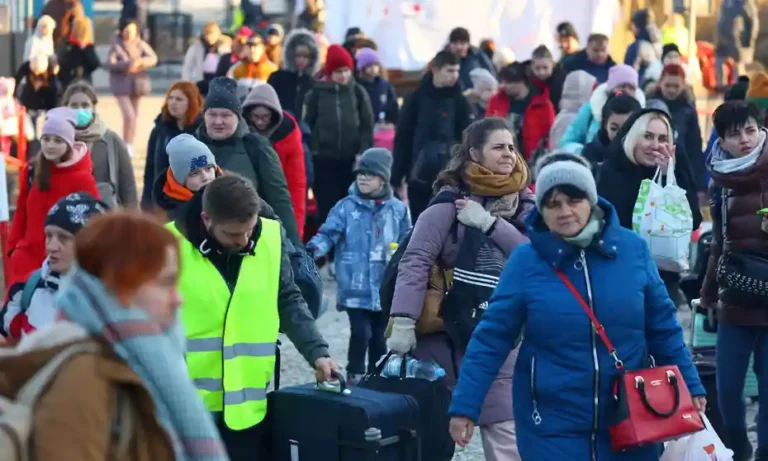
[[[451,348],[453,354],[453,348]],[[421,461],[450,461],[455,445],[449,431],[450,418],[448,407],[451,404],[451,389],[441,378],[428,381],[420,378],[406,378],[405,365],[411,356],[403,356],[400,377],[381,376],[384,367],[394,352],[389,352],[376,366],[376,370],[366,375],[359,387],[379,392],[409,395],[419,404],[421,416]],[[455,371],[455,370],[454,370]]]

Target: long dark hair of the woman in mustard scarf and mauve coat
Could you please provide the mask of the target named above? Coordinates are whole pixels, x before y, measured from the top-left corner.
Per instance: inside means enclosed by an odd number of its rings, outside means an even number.
[[[511,131],[507,122],[499,117],[484,118],[469,125],[461,135],[461,144],[454,144],[451,147],[451,159],[443,168],[443,171],[437,175],[437,180],[432,186],[433,190],[438,192],[445,186],[464,190],[466,186],[464,182],[464,166],[467,162],[474,161],[469,154],[469,150],[474,148],[482,151],[491,133],[498,130]],[[514,138],[514,133],[512,136]]]

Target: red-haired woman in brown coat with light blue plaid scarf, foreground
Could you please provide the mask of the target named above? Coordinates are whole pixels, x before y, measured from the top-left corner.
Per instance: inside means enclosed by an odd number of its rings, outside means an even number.
[[[36,399],[31,457],[229,459],[184,362],[174,235],[137,211],[107,213],[77,233],[75,257],[59,320],[0,349],[4,396],[66,358]]]

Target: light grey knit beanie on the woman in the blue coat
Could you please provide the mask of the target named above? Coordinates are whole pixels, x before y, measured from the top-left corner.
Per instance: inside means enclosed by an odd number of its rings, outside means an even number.
[[[597,205],[597,185],[589,164],[579,155],[556,152],[545,155],[536,163],[536,207],[547,192],[557,186],[569,185],[587,194],[589,203]]]

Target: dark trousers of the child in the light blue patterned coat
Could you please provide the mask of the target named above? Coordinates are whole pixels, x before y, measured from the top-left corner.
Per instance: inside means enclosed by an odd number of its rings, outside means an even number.
[[[347,373],[366,373],[365,353],[368,351],[368,373],[376,368],[376,362],[387,353],[384,331],[389,320],[381,312],[367,309],[346,308],[349,315],[349,350],[347,351]]]

